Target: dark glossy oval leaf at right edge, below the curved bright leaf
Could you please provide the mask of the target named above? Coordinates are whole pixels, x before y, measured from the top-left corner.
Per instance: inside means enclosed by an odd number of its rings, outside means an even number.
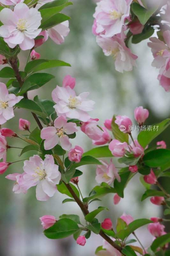
[[[144,164],[150,167],[159,167],[169,162],[170,150],[165,148],[155,149],[143,157]]]

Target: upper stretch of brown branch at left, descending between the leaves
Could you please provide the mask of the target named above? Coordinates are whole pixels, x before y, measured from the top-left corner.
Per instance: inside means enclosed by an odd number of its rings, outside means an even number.
[[[19,74],[19,69],[18,69],[18,66],[17,66],[18,60],[17,60],[17,58],[12,58],[11,57],[11,58],[9,58],[8,61],[9,61],[10,65],[11,65],[11,67],[12,67],[14,73],[15,73],[15,77],[16,77],[16,79],[18,81],[18,84],[19,84],[19,86],[21,88],[22,85],[23,85],[23,80],[22,80],[22,78],[21,78],[21,76]],[[24,93],[24,98],[28,99],[28,96],[27,96],[26,93]],[[33,112],[31,112],[31,114],[33,115],[35,121],[37,122],[40,130],[42,130],[43,127],[42,127],[42,124],[40,123],[40,120],[38,119],[37,115],[35,113],[33,113]]]

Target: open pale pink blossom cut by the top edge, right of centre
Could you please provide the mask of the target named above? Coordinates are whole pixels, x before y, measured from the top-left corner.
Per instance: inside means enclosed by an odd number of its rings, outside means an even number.
[[[121,32],[125,20],[129,19],[132,0],[102,0],[97,3],[93,17],[103,30],[105,36],[112,37]],[[125,26],[126,27],[126,26]]]

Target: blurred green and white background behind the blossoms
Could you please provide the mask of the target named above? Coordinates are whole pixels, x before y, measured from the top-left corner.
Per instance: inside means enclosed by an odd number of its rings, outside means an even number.
[[[38,94],[41,99],[51,98],[51,92],[56,85],[62,85],[64,76],[71,75],[76,78],[75,91],[90,92],[89,99],[96,102],[95,109],[90,113],[92,118],[99,118],[99,125],[103,126],[105,119],[111,118],[114,114],[126,115],[131,118],[133,124],[134,110],[143,106],[149,110],[149,120],[146,125],[158,123],[169,117],[170,100],[169,94],[159,86],[157,80],[158,70],[151,66],[152,53],[147,42],[144,40],[137,45],[130,45],[134,54],[138,56],[136,60],[137,68],[131,72],[118,73],[115,71],[112,57],[104,56],[102,49],[96,44],[95,36],[92,34],[93,17],[96,3],[92,0],[73,0],[73,5],[63,10],[63,13],[70,16],[70,33],[65,37],[65,42],[61,45],[55,44],[50,38],[47,42],[36,49],[41,54],[42,59],[58,59],[71,64],[71,67],[59,67],[44,70],[55,76],[48,84],[39,90],[28,93],[28,97],[33,99]],[[29,51],[19,53],[20,70],[25,67]],[[3,68],[4,66],[0,67]],[[2,79],[1,82],[6,82]],[[15,117],[9,120],[2,127],[7,127],[18,134],[22,132],[18,129],[19,118],[27,119],[31,122],[30,129],[33,130],[36,123],[29,112],[16,109]],[[137,133],[133,132],[134,139]],[[167,148],[170,147],[169,129],[166,129],[156,140],[165,140]],[[72,146],[81,146],[84,152],[93,148],[92,141],[82,132],[78,132],[76,138],[71,141]],[[10,146],[24,147],[22,141],[18,139],[8,139]],[[16,161],[20,153],[19,149],[9,149],[7,161]],[[29,157],[34,152],[24,154],[23,158]],[[17,159],[16,159],[17,158]],[[109,159],[107,159],[109,161]],[[114,160],[116,163],[116,160]],[[116,163],[117,164],[117,163]],[[56,192],[48,201],[37,201],[35,197],[35,187],[28,190],[26,195],[14,194],[12,188],[14,181],[5,179],[9,173],[22,173],[23,163],[19,162],[9,166],[7,171],[0,177],[0,256],[85,256],[95,255],[95,249],[102,244],[102,238],[92,234],[84,247],[76,244],[72,236],[61,240],[50,240],[42,232],[40,217],[43,215],[54,215],[56,219],[63,214],[78,214],[80,220],[84,220],[83,214],[75,203],[62,204],[67,196]],[[82,194],[87,196],[89,191],[97,185],[95,181],[95,167],[82,166],[80,170],[83,175],[79,178],[79,187]],[[116,218],[123,212],[130,214],[134,219],[161,217],[162,207],[150,203],[149,198],[140,202],[140,198],[145,189],[136,175],[125,189],[124,198],[118,205],[113,204],[113,195],[104,197],[102,202],[93,202],[89,210],[92,211],[100,205],[109,208],[107,212],[101,212],[97,217],[100,222],[105,218],[110,218],[113,227],[116,226]],[[169,180],[162,178],[168,192]],[[166,226],[168,231],[168,226]],[[83,234],[83,233],[82,233]],[[152,241],[152,235],[147,231],[146,226],[136,232],[137,236],[147,247]]]

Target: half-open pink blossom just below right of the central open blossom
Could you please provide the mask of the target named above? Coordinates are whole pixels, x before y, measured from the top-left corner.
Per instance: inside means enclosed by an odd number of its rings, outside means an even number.
[[[81,122],[80,130],[84,132],[92,140],[100,140],[103,131],[97,126],[99,119],[90,118],[87,122]]]

